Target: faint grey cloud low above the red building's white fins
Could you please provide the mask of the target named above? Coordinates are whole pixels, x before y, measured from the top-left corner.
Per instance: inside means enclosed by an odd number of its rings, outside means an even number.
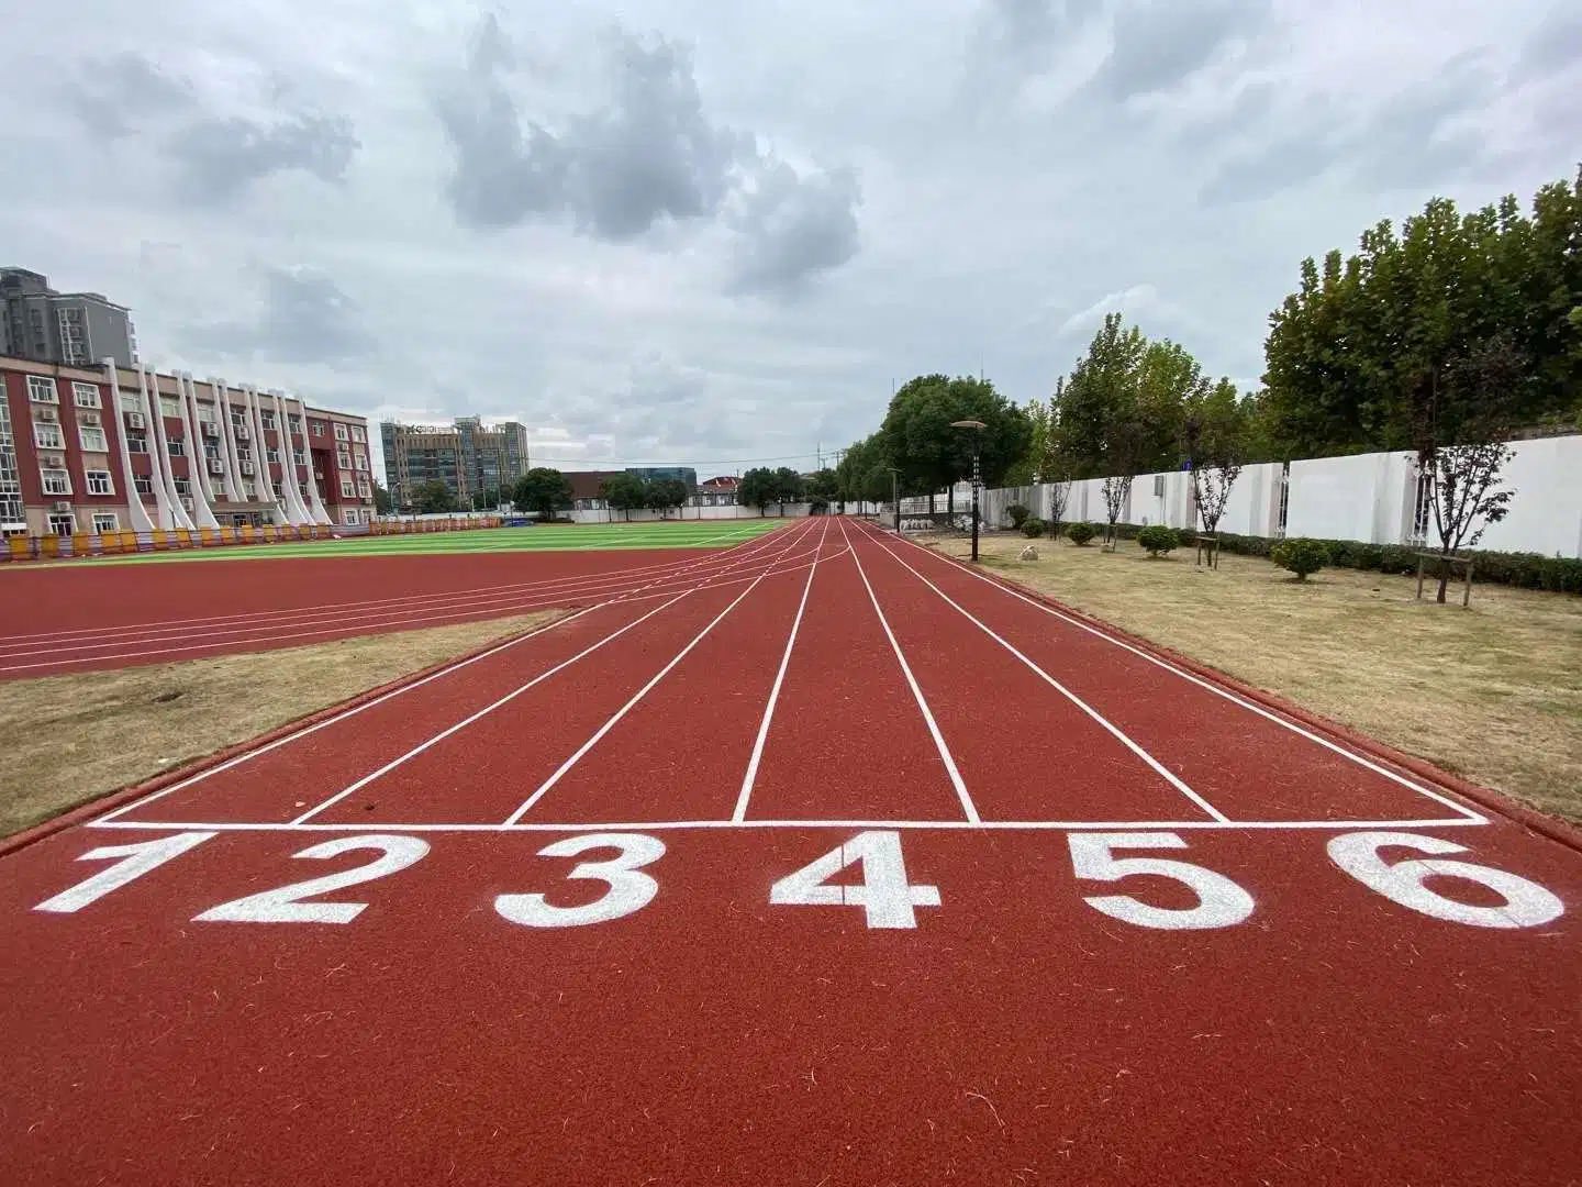
[[[195,348],[293,364],[345,362],[372,350],[358,305],[327,275],[308,267],[263,266],[258,272],[258,318],[188,326],[185,339]]]

